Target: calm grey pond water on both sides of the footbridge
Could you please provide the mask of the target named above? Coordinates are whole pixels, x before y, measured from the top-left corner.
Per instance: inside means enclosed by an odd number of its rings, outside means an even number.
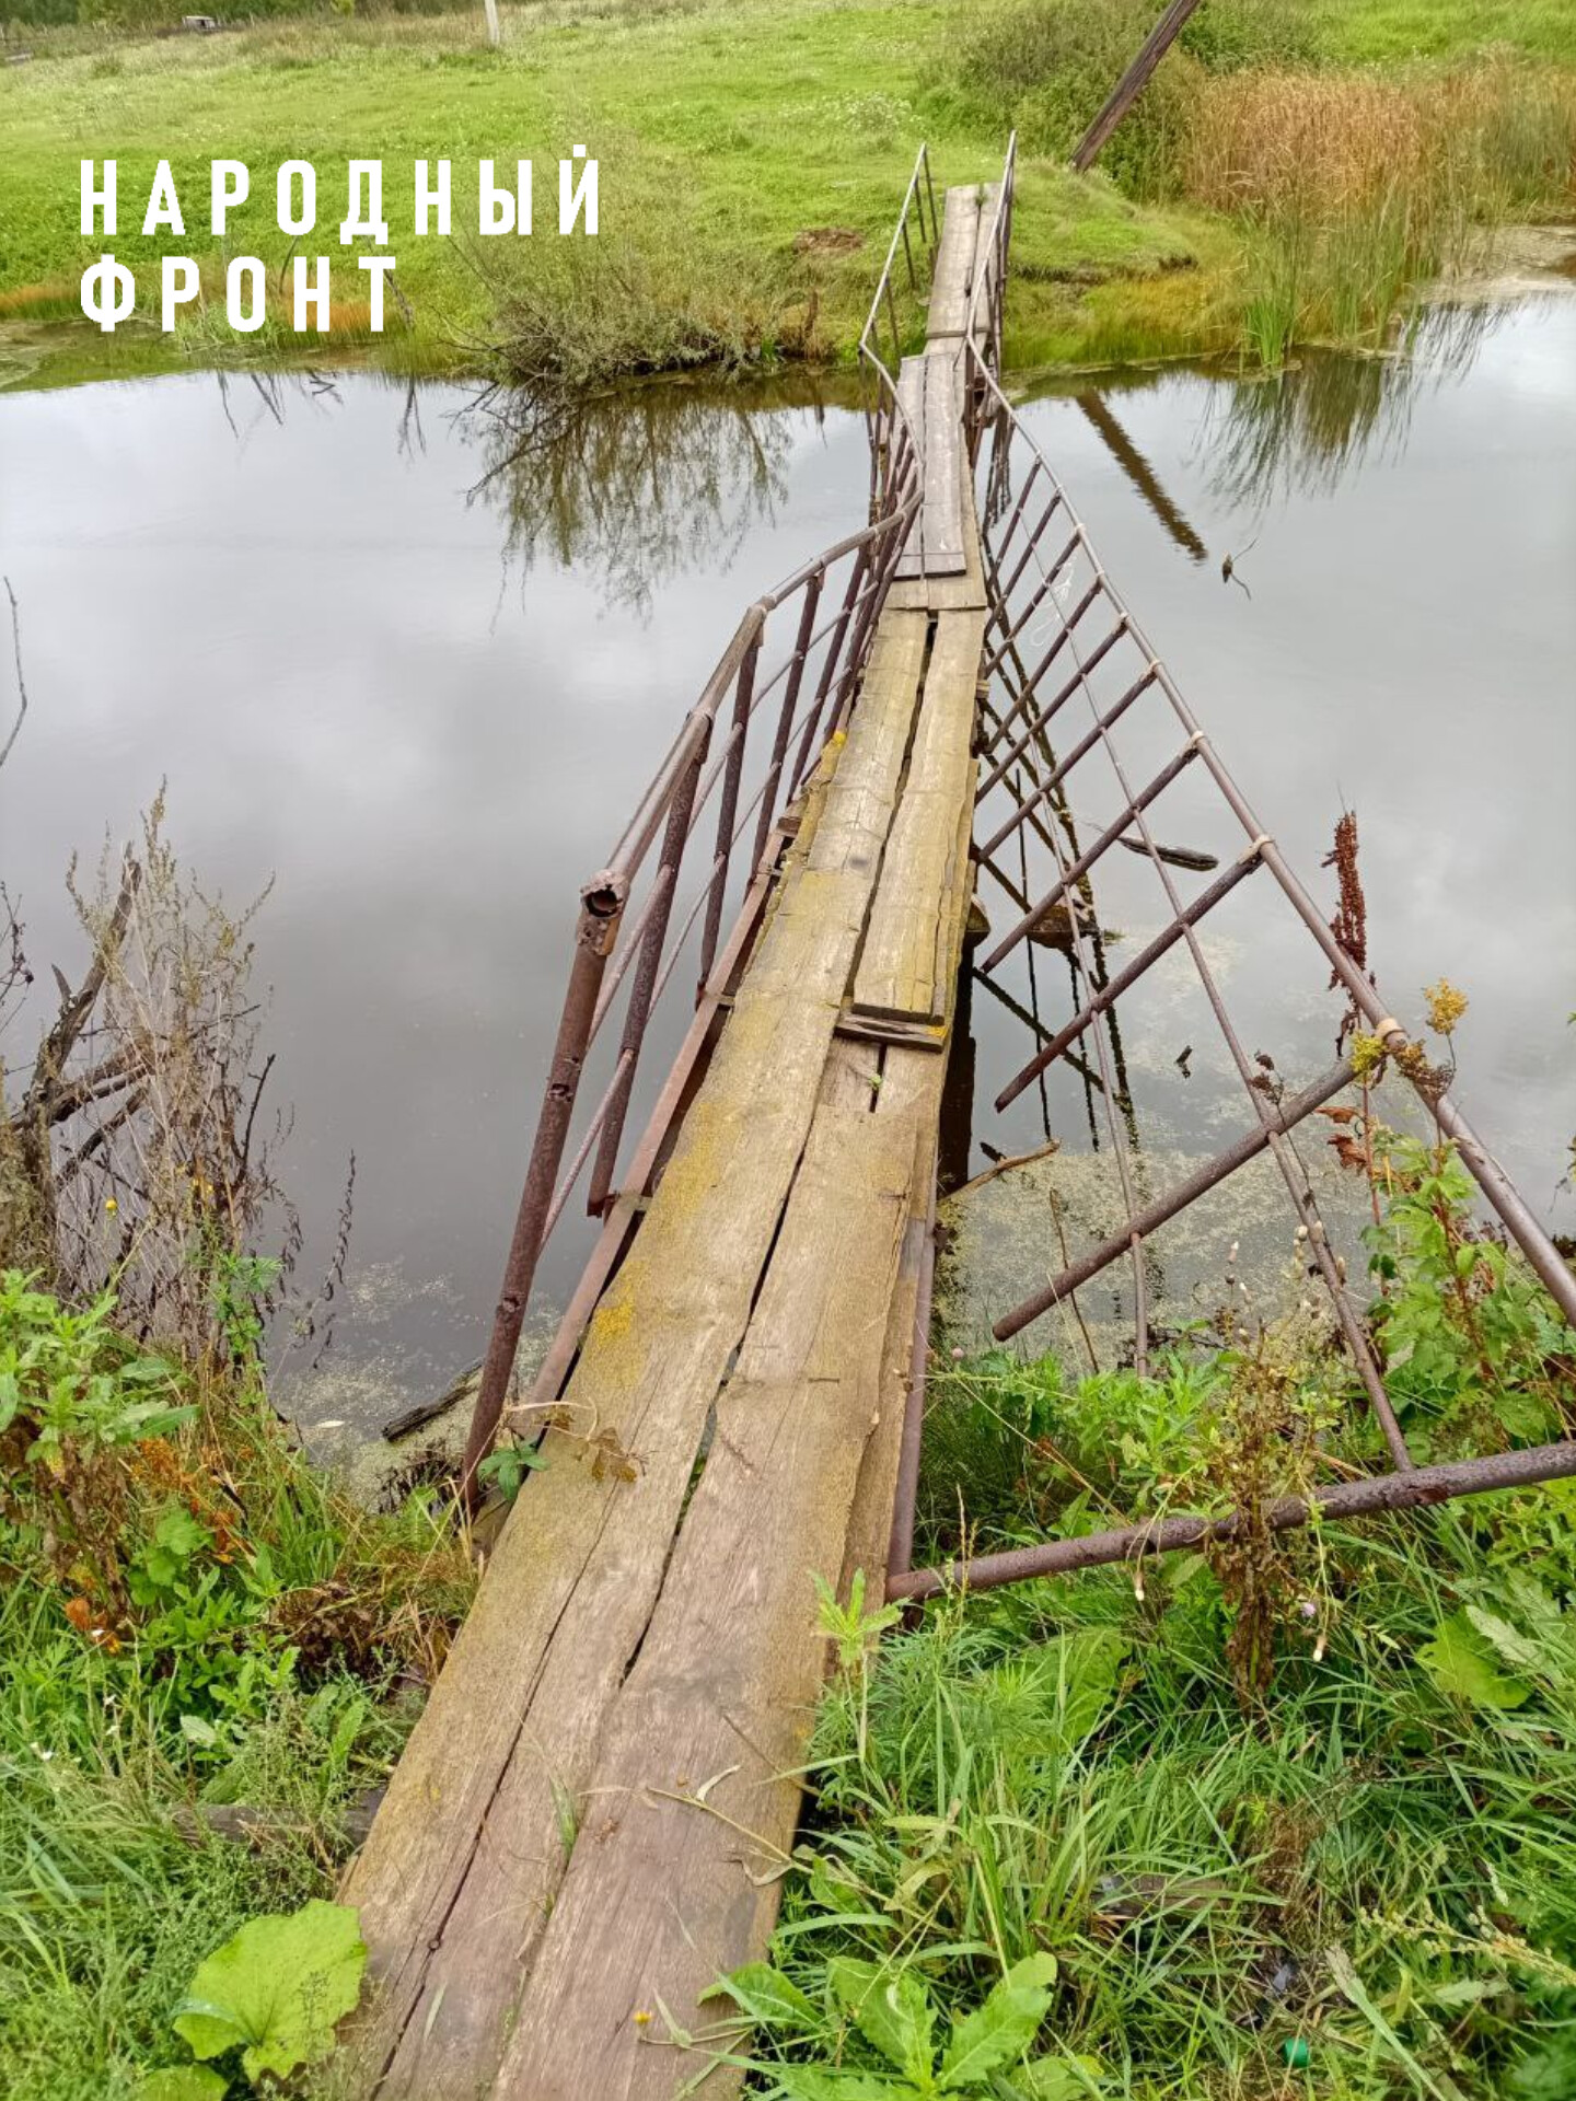
[[[1460,1099],[1570,1229],[1576,294],[1412,361],[1103,376],[1030,422],[1307,878],[1357,809],[1381,985],[1404,1013],[1442,973],[1471,994]],[[740,609],[864,492],[859,416],[803,393],[668,387],[561,424],[364,376],[0,395],[32,693],[0,874],[44,975],[80,962],[69,855],[162,779],[208,885],[273,880],[303,1273],[355,1156],[332,1349],[284,1366],[303,1420],[376,1424],[479,1357],[578,882]],[[992,1027],[975,1164],[1034,1137],[990,1118],[1021,1059]]]

